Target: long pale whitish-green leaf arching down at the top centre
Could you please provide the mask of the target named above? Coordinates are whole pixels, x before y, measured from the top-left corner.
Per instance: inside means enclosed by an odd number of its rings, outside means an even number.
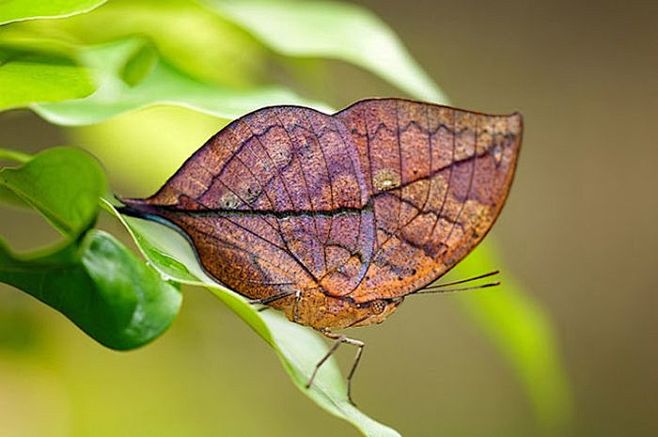
[[[397,35],[360,6],[328,1],[205,0],[204,3],[283,55],[350,62],[418,99],[447,101]]]

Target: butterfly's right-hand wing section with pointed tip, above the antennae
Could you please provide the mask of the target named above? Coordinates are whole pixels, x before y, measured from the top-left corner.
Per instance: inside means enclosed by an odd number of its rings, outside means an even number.
[[[375,215],[375,251],[356,302],[404,296],[447,272],[505,202],[521,145],[518,114],[493,116],[399,99],[335,115],[358,149]]]

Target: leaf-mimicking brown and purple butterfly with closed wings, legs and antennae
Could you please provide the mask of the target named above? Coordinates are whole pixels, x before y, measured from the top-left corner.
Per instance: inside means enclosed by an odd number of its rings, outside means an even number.
[[[489,232],[514,176],[522,117],[386,98],[333,115],[247,114],[122,212],[165,220],[239,294],[342,343],[381,323]],[[495,272],[494,272],[495,273]],[[489,276],[481,275],[468,282]],[[486,285],[496,285],[490,283]]]

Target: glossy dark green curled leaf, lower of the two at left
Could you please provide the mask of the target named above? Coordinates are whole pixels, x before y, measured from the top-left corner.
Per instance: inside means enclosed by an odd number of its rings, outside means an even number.
[[[0,281],[68,317],[113,349],[158,337],[178,314],[181,294],[111,235],[89,231],[80,245],[20,257],[0,240]]]

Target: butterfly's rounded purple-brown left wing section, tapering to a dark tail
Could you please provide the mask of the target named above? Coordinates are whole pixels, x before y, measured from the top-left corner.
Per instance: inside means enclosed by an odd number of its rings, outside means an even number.
[[[176,224],[212,276],[263,298],[362,282],[373,251],[368,198],[344,125],[273,107],[222,129],[152,197],[124,202]]]

